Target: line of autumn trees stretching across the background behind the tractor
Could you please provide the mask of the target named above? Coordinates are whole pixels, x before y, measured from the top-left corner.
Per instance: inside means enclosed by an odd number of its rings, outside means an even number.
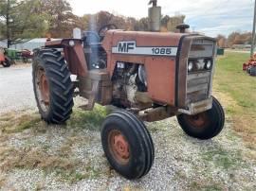
[[[163,15],[161,31],[175,31],[175,26],[184,20],[185,15]],[[148,23],[146,17],[137,20],[107,11],[80,17],[73,14],[66,0],[0,0],[0,40],[8,39],[9,45],[40,37],[68,38],[74,27],[99,30],[101,26],[115,24],[121,29],[147,31]],[[251,43],[251,33],[233,32],[228,38],[218,35],[217,42],[220,47]]]

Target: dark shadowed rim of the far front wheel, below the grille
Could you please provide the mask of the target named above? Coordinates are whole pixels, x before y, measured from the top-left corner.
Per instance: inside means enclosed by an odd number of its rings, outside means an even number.
[[[195,129],[204,129],[209,125],[209,116],[205,113],[187,115],[187,122]]]

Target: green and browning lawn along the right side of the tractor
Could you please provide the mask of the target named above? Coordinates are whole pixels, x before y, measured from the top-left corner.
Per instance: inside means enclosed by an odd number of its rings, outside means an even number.
[[[227,53],[220,58],[213,90],[224,95],[222,101],[226,112],[232,117],[234,130],[248,145],[256,145],[256,78],[242,70],[248,58],[246,53]]]

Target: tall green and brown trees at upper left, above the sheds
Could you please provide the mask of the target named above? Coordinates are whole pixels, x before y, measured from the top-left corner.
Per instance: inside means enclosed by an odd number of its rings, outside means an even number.
[[[0,0],[0,40],[70,37],[80,19],[65,0]]]

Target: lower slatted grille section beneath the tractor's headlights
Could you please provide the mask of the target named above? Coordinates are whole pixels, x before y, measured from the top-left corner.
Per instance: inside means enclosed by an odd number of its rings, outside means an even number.
[[[187,80],[187,104],[209,98],[211,72],[190,74]]]

